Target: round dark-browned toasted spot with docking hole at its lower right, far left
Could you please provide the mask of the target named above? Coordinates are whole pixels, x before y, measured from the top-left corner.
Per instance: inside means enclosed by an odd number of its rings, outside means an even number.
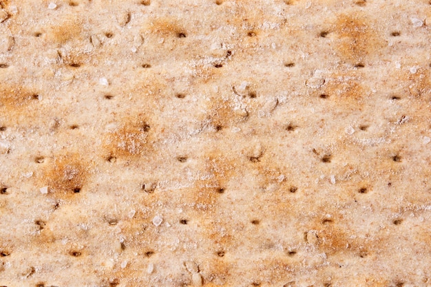
[[[77,196],[76,191],[87,182],[89,163],[77,153],[56,156],[43,169],[41,180],[50,188],[49,195],[54,198],[70,199]]]

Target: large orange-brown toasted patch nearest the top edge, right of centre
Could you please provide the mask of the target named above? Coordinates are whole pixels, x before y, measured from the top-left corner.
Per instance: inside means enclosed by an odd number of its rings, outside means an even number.
[[[379,54],[383,41],[373,26],[370,19],[361,14],[339,15],[333,30],[339,39],[335,46],[339,56],[355,64]]]

